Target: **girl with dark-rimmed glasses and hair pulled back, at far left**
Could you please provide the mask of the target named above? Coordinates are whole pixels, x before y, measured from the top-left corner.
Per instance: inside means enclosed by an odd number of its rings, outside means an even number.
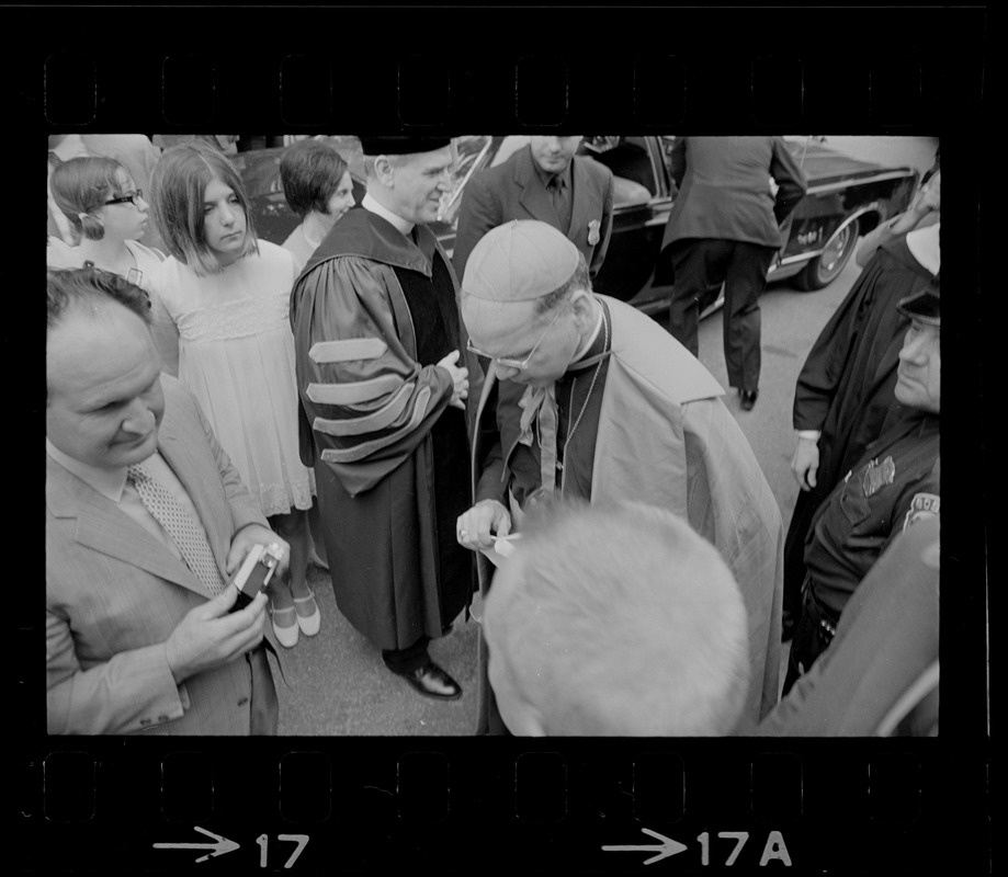
[[[161,357],[161,371],[179,374],[179,332],[165,310],[150,278],[165,254],[137,239],[147,230],[148,204],[126,168],[112,158],[71,158],[58,164],[49,180],[53,200],[80,243],[46,248],[48,267],[93,265],[139,286],[150,299],[150,333]]]

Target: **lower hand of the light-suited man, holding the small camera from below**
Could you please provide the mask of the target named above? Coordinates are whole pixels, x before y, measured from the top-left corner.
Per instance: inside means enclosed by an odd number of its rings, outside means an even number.
[[[243,610],[228,614],[238,589],[228,582],[224,592],[194,610],[175,626],[165,643],[168,667],[175,683],[223,667],[262,641],[265,620],[265,592],[260,592]]]

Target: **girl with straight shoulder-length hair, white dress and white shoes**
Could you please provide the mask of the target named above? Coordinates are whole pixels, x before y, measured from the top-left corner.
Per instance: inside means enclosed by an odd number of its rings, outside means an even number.
[[[314,474],[298,454],[291,254],[256,237],[234,166],[207,144],[166,150],[151,178],[170,252],[154,285],[181,337],[179,378],[200,400],[271,526],[291,545],[290,580],[270,584],[272,624],[287,648],[314,636],[306,581]]]

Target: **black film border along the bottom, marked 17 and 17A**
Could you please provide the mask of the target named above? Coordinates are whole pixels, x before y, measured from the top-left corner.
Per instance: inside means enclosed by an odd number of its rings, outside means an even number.
[[[984,872],[984,802],[962,794],[982,777],[935,745],[835,745],[828,758],[807,741],[404,741],[376,759],[354,741],[275,755],[182,741],[102,750],[30,768],[22,806],[47,824],[49,867],[184,869],[216,851],[228,854],[219,867],[252,873],[279,869],[303,839],[294,866],[307,873],[336,861],[350,873],[624,873],[661,853],[680,873]]]

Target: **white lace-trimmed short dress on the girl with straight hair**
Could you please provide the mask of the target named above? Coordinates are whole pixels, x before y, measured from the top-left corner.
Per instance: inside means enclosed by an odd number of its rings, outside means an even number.
[[[312,506],[314,472],[301,463],[286,250],[259,241],[207,277],[169,257],[151,280],[179,328],[179,379],[193,392],[263,514]]]

